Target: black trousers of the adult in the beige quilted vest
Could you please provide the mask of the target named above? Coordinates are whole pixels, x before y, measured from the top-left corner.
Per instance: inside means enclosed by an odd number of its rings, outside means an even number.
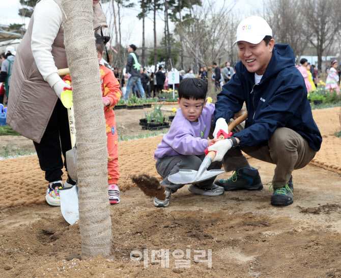
[[[40,143],[33,142],[37,151],[40,168],[45,172],[48,182],[62,180],[63,158],[67,150],[71,149],[68,112],[60,99],[54,106]],[[66,168],[66,160],[64,159]]]

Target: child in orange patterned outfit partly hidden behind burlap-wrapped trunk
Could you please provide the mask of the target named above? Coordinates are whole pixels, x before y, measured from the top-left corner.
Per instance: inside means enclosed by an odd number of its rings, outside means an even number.
[[[118,163],[119,153],[115,112],[112,108],[120,101],[122,92],[120,90],[120,83],[113,72],[104,65],[101,65],[105,44],[110,40],[110,37],[104,36],[102,38],[99,34],[95,34],[95,38],[99,69],[101,73],[102,99],[106,123],[109,202],[111,204],[118,204],[120,203],[120,189],[118,187],[118,180],[120,176]],[[66,75],[63,80],[69,80],[71,82],[70,75]]]

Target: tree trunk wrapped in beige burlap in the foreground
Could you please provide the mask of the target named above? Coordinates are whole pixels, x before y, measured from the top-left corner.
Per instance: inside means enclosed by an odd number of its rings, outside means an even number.
[[[89,0],[62,0],[77,131],[79,230],[85,259],[106,257],[111,249],[106,129],[92,4]]]

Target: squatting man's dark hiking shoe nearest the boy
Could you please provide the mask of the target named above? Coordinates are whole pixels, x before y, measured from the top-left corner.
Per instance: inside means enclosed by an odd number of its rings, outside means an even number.
[[[263,183],[258,169],[240,168],[234,171],[232,177],[214,182],[225,191],[234,190],[262,190]]]

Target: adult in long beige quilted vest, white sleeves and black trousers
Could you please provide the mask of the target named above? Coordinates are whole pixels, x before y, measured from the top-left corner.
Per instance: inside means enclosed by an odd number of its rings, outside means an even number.
[[[96,32],[107,27],[99,1],[92,1]],[[46,201],[52,206],[60,205],[59,188],[64,187],[61,153],[65,158],[66,151],[71,149],[67,109],[60,100],[63,88],[69,85],[58,75],[58,69],[68,68],[61,2],[37,2],[17,50],[7,112],[8,125],[34,141],[40,168],[49,182]],[[67,167],[65,160],[64,166]],[[71,178],[67,183],[75,184]]]

